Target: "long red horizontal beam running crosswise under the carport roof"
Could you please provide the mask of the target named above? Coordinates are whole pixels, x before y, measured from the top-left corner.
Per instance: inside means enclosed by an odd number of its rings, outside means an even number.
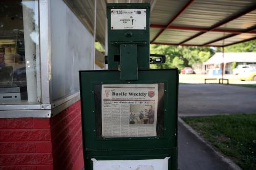
[[[155,24],[151,24],[150,28],[160,28],[160,29],[165,29],[165,26],[161,26],[161,25],[155,25]],[[207,28],[198,28],[198,27],[181,27],[181,26],[169,26],[166,29],[175,29],[175,30],[188,30],[188,31],[200,31],[200,32],[207,32],[208,29]],[[227,29],[214,29],[211,30],[212,32],[221,32],[221,33],[236,33],[236,34],[241,34],[244,33],[243,30],[227,30]],[[256,34],[256,31],[251,31],[249,32],[251,34]]]

